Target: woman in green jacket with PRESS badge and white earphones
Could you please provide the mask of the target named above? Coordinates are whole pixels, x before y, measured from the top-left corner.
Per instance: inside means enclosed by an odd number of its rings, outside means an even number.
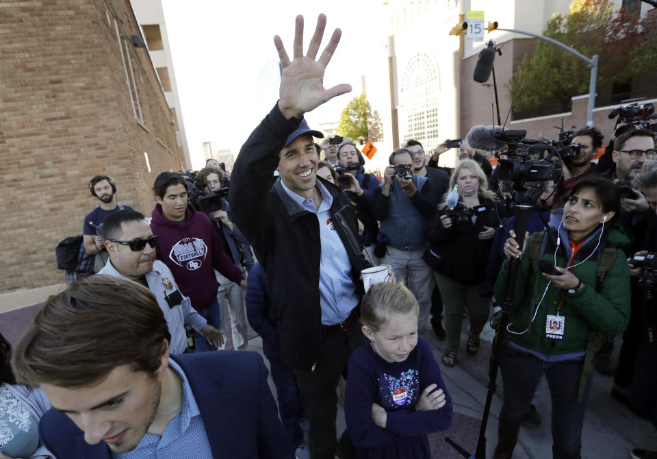
[[[493,459],[511,458],[543,375],[552,397],[553,457],[580,458],[591,349],[603,336],[623,332],[630,319],[630,271],[619,248],[630,240],[614,224],[619,212],[616,186],[590,175],[575,184],[565,208],[552,214],[556,246],[544,232],[528,238],[523,252],[515,233],[506,240],[507,261],[495,284],[498,302],[506,294],[508,260],[520,262],[500,363],[504,404]],[[548,260],[558,274],[541,273],[539,260]]]

